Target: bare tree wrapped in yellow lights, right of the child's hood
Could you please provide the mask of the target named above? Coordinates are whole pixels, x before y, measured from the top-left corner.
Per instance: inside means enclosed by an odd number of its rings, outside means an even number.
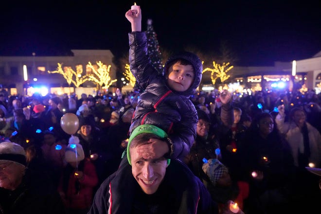
[[[215,84],[218,78],[223,83],[230,78],[230,75],[228,75],[227,72],[229,72],[233,67],[234,66],[230,66],[230,63],[223,63],[223,65],[221,66],[220,64],[213,61],[213,68],[207,67],[202,71],[202,73],[210,71],[213,84]]]

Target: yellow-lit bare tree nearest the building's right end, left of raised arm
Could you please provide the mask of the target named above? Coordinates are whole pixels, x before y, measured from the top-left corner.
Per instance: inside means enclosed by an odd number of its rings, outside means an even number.
[[[103,86],[107,89],[113,82],[116,82],[117,79],[111,80],[111,77],[109,76],[111,65],[104,65],[101,61],[96,63],[98,68],[88,62],[87,66],[92,70],[92,74],[88,75],[89,81],[95,82],[97,87],[99,87],[99,90],[101,90]]]

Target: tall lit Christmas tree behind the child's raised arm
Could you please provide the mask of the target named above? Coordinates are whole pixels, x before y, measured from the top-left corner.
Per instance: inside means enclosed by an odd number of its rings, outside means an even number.
[[[157,40],[157,34],[154,31],[152,25],[152,19],[147,20],[147,53],[152,62],[152,65],[156,68],[159,74],[162,73],[163,65],[161,63],[160,46]]]

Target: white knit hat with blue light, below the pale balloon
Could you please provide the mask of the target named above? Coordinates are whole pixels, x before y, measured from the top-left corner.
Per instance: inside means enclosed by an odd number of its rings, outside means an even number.
[[[83,147],[79,144],[79,138],[71,136],[69,144],[65,151],[65,160],[67,162],[80,162],[85,159]]]

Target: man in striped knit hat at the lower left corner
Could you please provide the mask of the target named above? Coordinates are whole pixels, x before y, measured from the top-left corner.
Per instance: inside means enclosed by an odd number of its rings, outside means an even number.
[[[0,143],[0,214],[65,214],[65,207],[45,173],[26,168],[24,148]]]

